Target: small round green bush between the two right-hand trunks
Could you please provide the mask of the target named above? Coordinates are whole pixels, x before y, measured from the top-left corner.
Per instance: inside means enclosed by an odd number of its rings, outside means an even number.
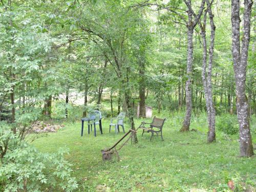
[[[229,114],[219,116],[216,127],[227,135],[234,135],[239,132],[239,125],[236,116]]]

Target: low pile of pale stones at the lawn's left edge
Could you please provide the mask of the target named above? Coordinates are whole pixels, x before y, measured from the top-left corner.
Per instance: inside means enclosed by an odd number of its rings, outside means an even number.
[[[34,133],[46,133],[46,132],[57,132],[64,125],[61,124],[51,124],[49,122],[37,121],[32,126],[32,130]]]

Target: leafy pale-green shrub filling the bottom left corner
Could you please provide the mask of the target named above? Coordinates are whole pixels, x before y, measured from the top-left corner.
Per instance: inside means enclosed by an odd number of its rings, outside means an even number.
[[[0,146],[6,153],[0,158],[0,190],[2,191],[72,191],[78,187],[71,177],[71,164],[60,149],[54,154],[44,154],[20,141],[7,127],[0,126]]]

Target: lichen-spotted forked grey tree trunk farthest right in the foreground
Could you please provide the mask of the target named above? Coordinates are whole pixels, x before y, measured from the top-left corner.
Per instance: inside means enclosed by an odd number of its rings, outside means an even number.
[[[240,155],[242,157],[250,157],[253,155],[253,146],[248,116],[248,101],[245,94],[246,67],[250,40],[251,7],[252,1],[244,0],[243,38],[241,49],[240,1],[231,1],[232,57],[234,77],[236,81],[237,113],[240,132]]]

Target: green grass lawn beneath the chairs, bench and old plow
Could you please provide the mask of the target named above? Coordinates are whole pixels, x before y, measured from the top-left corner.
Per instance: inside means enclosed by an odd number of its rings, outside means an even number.
[[[56,152],[59,147],[70,149],[67,160],[73,164],[73,176],[79,183],[77,191],[189,191],[192,188],[227,191],[229,180],[235,185],[255,185],[255,157],[238,157],[238,135],[227,137],[217,132],[217,141],[208,144],[205,115],[193,117],[190,127],[199,131],[189,133],[179,132],[183,115],[157,116],[167,118],[164,141],[160,137],[150,141],[150,134],[141,137],[139,130],[139,143],[125,145],[119,152],[119,162],[116,158],[111,162],[101,159],[100,150],[110,147],[123,135],[121,132],[115,135],[114,127],[109,134],[108,118],[102,120],[102,136],[97,127],[97,137],[93,133],[88,135],[87,129],[81,137],[80,122],[66,122],[57,133],[32,144],[48,153]],[[138,126],[142,120],[135,121]],[[126,122],[125,130],[128,128]]]

